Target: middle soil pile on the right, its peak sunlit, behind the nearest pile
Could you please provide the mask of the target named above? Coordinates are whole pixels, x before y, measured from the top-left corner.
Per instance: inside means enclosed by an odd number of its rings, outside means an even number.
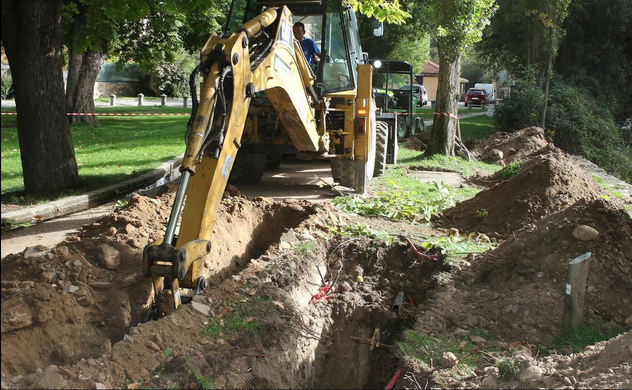
[[[503,236],[577,200],[598,198],[600,192],[599,185],[565,155],[537,155],[513,178],[445,210],[442,224]]]

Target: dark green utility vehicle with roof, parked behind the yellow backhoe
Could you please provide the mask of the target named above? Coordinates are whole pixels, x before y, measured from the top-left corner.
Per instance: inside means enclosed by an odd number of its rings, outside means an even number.
[[[415,118],[419,97],[413,93],[413,66],[406,61],[372,59],[375,104],[380,112],[377,119],[389,125],[387,162],[396,163],[397,140],[425,131],[422,118]],[[397,137],[395,137],[395,135]]]

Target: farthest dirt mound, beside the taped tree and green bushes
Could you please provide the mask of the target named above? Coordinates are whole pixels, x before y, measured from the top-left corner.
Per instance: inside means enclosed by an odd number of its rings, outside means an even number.
[[[511,164],[543,149],[552,150],[555,147],[547,141],[542,128],[528,127],[513,133],[495,133],[488,140],[473,145],[471,152],[483,161],[499,161],[501,158],[496,150],[500,150],[502,161]]]

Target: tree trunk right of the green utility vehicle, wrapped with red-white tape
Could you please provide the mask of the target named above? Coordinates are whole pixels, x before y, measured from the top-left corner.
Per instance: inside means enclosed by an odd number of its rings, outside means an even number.
[[[450,53],[444,52],[441,40],[437,40],[439,52],[439,85],[435,112],[456,115],[459,108],[459,58],[451,59]],[[435,115],[430,142],[425,155],[454,155],[454,135],[456,119],[444,115]]]

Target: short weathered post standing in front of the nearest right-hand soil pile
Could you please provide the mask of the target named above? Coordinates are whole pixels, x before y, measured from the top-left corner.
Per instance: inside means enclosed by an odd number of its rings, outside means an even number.
[[[562,317],[562,329],[574,329],[584,314],[584,294],[586,279],[588,278],[588,265],[590,265],[590,252],[576,257],[568,262],[568,277],[566,277],[566,298],[564,298],[564,316]]]

